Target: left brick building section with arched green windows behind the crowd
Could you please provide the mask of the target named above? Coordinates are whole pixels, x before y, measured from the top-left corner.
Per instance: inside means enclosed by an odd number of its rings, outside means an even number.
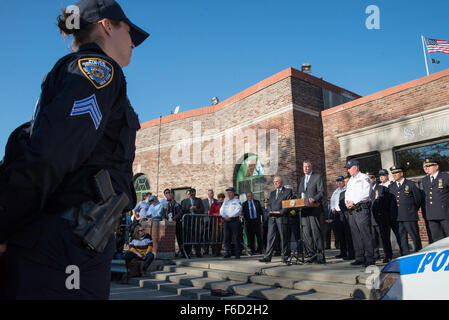
[[[359,98],[288,68],[223,102],[154,119],[137,134],[133,170],[138,194],[187,188],[206,197],[235,186],[267,198],[273,178],[297,188],[302,161],[324,174],[321,111]]]

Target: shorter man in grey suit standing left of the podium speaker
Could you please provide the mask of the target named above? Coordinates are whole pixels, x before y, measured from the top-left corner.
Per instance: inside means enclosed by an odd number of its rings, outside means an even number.
[[[281,243],[281,254],[282,262],[288,263],[287,253],[287,243],[290,239],[285,239],[284,237],[284,227],[283,219],[289,214],[289,209],[282,208],[282,201],[289,200],[292,198],[292,190],[287,189],[283,186],[282,178],[275,177],[273,180],[275,190],[270,193],[270,198],[268,200],[268,243],[267,249],[265,250],[265,255],[260,262],[270,262],[271,257],[276,245],[276,239],[280,238]],[[276,233],[276,231],[278,231]]]

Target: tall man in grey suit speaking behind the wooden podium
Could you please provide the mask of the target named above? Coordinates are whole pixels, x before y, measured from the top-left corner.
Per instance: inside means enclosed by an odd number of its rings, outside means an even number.
[[[299,180],[298,197],[308,199],[310,204],[318,204],[318,207],[303,208],[302,228],[306,253],[312,260],[308,262],[325,263],[323,239],[321,237],[320,214],[323,211],[324,187],[321,175],[312,171],[312,163],[303,162],[304,176]]]

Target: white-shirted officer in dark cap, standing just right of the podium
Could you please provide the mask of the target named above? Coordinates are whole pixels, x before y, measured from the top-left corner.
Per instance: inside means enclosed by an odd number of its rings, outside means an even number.
[[[352,265],[374,265],[374,244],[371,234],[371,179],[360,172],[356,159],[345,166],[351,179],[346,186],[345,203],[349,210],[349,225],[354,243],[355,261]]]

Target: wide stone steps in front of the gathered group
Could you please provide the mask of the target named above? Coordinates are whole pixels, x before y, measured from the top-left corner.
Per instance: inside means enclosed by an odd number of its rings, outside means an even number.
[[[129,284],[176,293],[198,300],[345,300],[369,299],[364,268],[347,261],[327,259],[325,265],[286,266],[280,258],[271,263],[258,261],[262,256],[179,259],[160,265],[162,270],[146,278],[129,279]],[[378,265],[381,268],[381,265]],[[211,290],[221,289],[230,296],[217,297]]]

